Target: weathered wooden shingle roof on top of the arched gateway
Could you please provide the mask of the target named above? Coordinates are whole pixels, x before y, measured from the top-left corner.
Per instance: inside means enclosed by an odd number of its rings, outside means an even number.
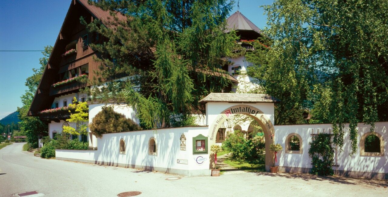
[[[249,93],[210,93],[200,103],[227,102],[227,103],[277,103],[280,100],[267,94]]]

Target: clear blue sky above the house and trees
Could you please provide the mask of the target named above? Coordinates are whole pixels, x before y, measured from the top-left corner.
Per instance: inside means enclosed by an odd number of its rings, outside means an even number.
[[[43,50],[54,46],[72,0],[0,0],[0,50]],[[260,5],[272,0],[241,0],[240,12],[263,28]],[[236,6],[230,14],[237,10]],[[21,107],[26,78],[38,68],[41,52],[0,52],[0,119]]]

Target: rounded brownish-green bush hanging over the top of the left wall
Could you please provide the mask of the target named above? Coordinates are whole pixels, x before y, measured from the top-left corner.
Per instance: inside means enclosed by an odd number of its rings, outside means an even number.
[[[89,129],[92,133],[101,137],[103,133],[116,133],[125,131],[138,131],[142,128],[126,118],[123,114],[115,112],[113,107],[102,107],[102,110],[96,114],[92,123],[89,124]]]

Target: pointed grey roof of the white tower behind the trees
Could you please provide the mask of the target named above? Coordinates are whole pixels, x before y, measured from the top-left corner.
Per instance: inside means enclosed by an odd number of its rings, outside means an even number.
[[[250,30],[250,31],[255,31],[256,33],[262,34],[262,30],[259,29],[253,22],[249,21],[247,17],[241,14],[237,10],[234,14],[232,14],[228,19],[227,19],[227,32],[230,31],[230,29],[233,30]]]

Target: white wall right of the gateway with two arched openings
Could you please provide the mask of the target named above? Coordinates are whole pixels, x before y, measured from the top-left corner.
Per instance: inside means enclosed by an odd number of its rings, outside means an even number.
[[[359,123],[357,130],[358,135],[358,148],[357,152],[353,156],[349,156],[351,151],[351,141],[349,140],[349,125],[345,124],[345,143],[343,152],[339,153],[337,158],[334,156],[334,162],[337,159],[338,170],[344,171],[360,171],[360,172],[374,172],[374,173],[388,173],[388,122],[377,122],[375,131],[383,137],[384,140],[384,156],[360,156],[360,138],[365,133],[369,132],[370,126],[364,123]],[[300,124],[300,125],[275,125],[275,143],[282,145],[283,150],[278,152],[279,158],[277,165],[299,167],[299,168],[312,168],[311,158],[308,156],[308,149],[310,149],[309,142],[312,141],[311,134],[317,133],[333,133],[331,124]],[[302,154],[289,154],[286,153],[284,148],[286,144],[286,137],[290,133],[298,133],[302,142]],[[333,147],[334,149],[335,147]],[[334,149],[335,150],[335,149]],[[333,167],[336,169],[336,167]]]

